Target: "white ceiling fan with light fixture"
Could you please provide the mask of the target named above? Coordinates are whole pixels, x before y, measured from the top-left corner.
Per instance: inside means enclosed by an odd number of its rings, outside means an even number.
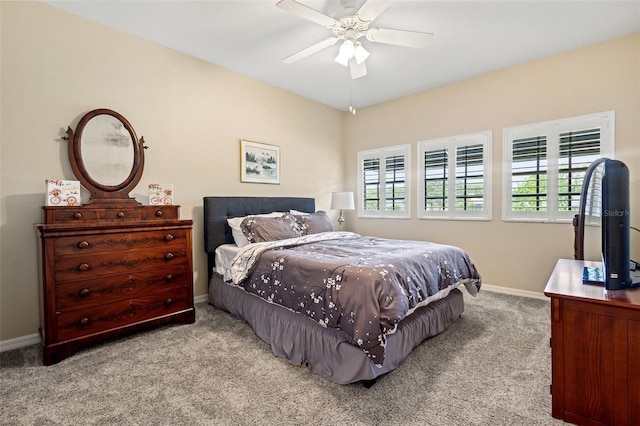
[[[290,64],[299,61],[343,40],[335,60],[341,65],[348,66],[351,78],[356,79],[367,75],[364,61],[369,56],[369,52],[359,41],[362,37],[375,43],[414,48],[427,47],[433,38],[432,33],[369,26],[390,4],[390,0],[367,0],[354,15],[334,19],[296,0],[280,0],[276,3],[280,9],[323,25],[333,32],[333,36],[287,56],[283,62]]]

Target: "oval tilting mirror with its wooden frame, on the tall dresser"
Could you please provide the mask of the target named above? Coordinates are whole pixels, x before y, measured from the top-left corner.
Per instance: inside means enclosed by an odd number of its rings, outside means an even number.
[[[71,168],[91,193],[89,203],[137,203],[129,192],[142,177],[144,140],[137,140],[127,119],[96,109],[80,119],[75,134],[70,127],[67,133]]]

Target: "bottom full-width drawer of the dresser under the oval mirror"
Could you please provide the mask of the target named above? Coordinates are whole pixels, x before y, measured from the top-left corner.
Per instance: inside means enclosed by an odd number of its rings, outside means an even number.
[[[57,313],[57,339],[69,340],[169,315],[193,306],[189,288],[173,287],[147,296]]]

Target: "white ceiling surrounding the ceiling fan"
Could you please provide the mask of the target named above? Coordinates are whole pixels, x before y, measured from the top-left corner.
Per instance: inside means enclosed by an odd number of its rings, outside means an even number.
[[[299,1],[334,18],[363,3]],[[331,32],[277,8],[277,0],[45,3],[340,110],[349,108],[351,85],[354,106],[365,107],[640,31],[640,0],[395,0],[373,25],[434,33],[431,45],[362,39],[368,74],[351,80],[333,60],[339,44],[282,62]]]

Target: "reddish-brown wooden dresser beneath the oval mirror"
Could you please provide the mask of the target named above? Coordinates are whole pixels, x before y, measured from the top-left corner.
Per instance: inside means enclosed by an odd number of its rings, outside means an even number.
[[[193,323],[193,221],[178,206],[43,207],[43,363],[168,322]]]

